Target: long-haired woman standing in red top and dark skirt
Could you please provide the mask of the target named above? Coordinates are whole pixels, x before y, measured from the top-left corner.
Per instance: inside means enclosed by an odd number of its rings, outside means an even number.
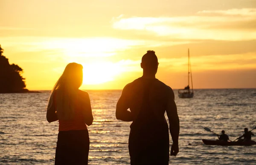
[[[82,69],[81,64],[67,64],[49,99],[47,121],[59,121],[55,165],[88,165],[87,126],[93,123],[93,115],[88,93],[79,90]]]

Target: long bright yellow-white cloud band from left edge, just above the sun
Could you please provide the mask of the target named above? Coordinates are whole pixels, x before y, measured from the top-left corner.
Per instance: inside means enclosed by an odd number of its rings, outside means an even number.
[[[154,39],[118,39],[111,37],[61,38],[17,36],[0,37],[4,48],[12,48],[13,52],[55,51],[53,56],[62,56],[70,60],[108,58],[124,53],[126,50],[180,45],[189,41],[154,41]],[[99,60],[100,60],[99,59]]]

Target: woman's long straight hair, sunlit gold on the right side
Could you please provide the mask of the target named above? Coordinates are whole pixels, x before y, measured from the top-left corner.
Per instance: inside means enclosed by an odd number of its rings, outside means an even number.
[[[77,63],[67,64],[61,77],[52,89],[58,119],[70,120],[74,117],[75,101],[78,89],[83,81],[83,66]]]

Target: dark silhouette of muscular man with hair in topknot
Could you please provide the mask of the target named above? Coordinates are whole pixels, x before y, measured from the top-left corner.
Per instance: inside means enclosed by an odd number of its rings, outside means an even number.
[[[172,88],[155,78],[158,60],[153,50],[142,57],[143,76],[127,84],[116,105],[116,119],[132,121],[129,135],[131,165],[168,165],[169,131],[171,155],[179,152],[180,122]],[[128,111],[130,109],[130,111]]]

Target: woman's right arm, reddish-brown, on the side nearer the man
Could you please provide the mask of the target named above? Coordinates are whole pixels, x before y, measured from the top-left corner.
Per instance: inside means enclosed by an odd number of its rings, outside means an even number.
[[[90,104],[90,97],[89,94],[85,91],[81,91],[81,98],[82,98],[82,105],[83,105],[83,116],[84,116],[84,123],[86,123],[87,126],[92,125],[93,123],[93,113],[92,113],[92,107]]]

